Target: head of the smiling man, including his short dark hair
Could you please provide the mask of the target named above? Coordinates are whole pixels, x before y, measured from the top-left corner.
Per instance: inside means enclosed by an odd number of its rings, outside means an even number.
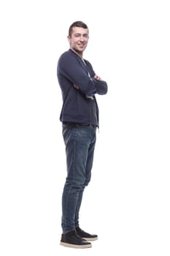
[[[82,21],[75,21],[69,27],[69,45],[75,53],[82,57],[82,53],[88,45],[88,26]]]

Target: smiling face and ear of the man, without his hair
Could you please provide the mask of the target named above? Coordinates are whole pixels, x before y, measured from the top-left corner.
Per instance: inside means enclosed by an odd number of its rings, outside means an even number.
[[[72,36],[67,37],[69,40],[70,48],[79,55],[85,50],[88,45],[88,29],[74,27],[72,29]]]

